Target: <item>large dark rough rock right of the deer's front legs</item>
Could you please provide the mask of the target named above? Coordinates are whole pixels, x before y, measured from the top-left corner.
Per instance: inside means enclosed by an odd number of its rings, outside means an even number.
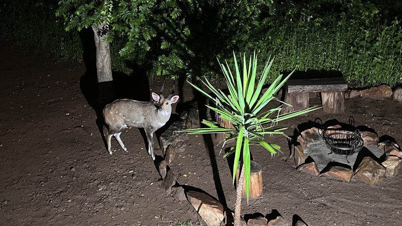
[[[165,150],[169,145],[173,146],[177,153],[185,151],[188,145],[187,133],[179,133],[185,130],[183,122],[174,122],[170,127],[160,135],[162,149]]]

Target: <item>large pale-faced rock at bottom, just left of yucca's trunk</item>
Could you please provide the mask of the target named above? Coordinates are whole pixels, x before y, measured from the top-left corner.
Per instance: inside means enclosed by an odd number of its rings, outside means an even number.
[[[188,191],[187,200],[207,225],[220,225],[224,219],[223,205],[209,194]]]

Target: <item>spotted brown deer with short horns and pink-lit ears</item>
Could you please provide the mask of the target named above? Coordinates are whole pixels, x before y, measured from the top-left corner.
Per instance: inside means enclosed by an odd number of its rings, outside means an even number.
[[[138,101],[133,99],[117,99],[105,106],[103,116],[108,129],[108,152],[112,155],[111,140],[115,137],[120,147],[125,151],[120,135],[126,127],[144,128],[148,141],[148,155],[155,160],[153,134],[170,119],[172,103],[177,102],[178,95],[173,91],[165,98],[162,94],[164,84],[159,95],[152,92],[154,102]],[[155,104],[156,103],[156,104]]]

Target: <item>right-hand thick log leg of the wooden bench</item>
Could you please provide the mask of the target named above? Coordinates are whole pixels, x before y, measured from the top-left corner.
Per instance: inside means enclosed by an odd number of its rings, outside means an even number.
[[[345,112],[345,92],[321,92],[323,101],[323,110],[327,113],[342,113]]]

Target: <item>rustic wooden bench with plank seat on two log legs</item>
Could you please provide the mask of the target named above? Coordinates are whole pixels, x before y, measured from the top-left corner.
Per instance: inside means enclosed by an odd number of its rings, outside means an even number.
[[[310,92],[321,92],[325,112],[344,112],[345,91],[347,89],[348,85],[342,77],[290,79],[286,83],[284,101],[291,104],[292,107],[284,105],[284,112],[308,108]]]

